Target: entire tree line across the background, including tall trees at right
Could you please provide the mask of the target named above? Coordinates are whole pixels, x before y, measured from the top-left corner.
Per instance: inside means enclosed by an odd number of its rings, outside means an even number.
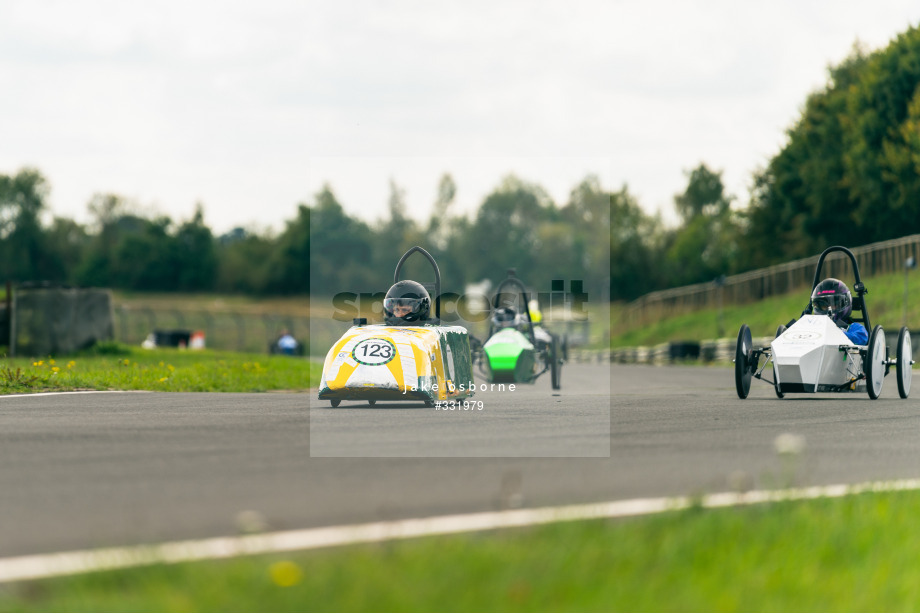
[[[595,295],[631,300],[829,245],[917,233],[920,30],[872,53],[854,47],[828,69],[826,86],[807,97],[786,137],[753,173],[747,203],[726,194],[721,171],[705,163],[688,170],[674,198],[674,227],[646,213],[628,186],[605,190],[594,176],[562,203],[539,183],[508,176],[474,213],[461,213],[449,173],[432,186],[432,213],[423,222],[391,182],[379,222],[348,215],[327,185],[276,234],[236,228],[215,236],[201,206],[175,222],[145,217],[114,194],[88,203],[89,225],[60,217],[44,223],[50,185],[26,168],[0,174],[0,281],[254,295],[379,292],[399,256],[422,245],[453,291],[497,283],[514,267],[538,291],[552,280],[582,279]],[[421,263],[407,269],[424,274]]]

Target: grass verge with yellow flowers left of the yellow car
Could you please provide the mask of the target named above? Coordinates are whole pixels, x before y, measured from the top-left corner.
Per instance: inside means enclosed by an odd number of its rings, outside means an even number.
[[[106,343],[75,356],[0,357],[0,394],[69,390],[306,390],[321,365],[303,358],[213,350],[144,350]]]

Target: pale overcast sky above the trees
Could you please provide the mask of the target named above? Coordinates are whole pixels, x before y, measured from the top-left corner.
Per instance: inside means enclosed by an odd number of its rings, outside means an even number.
[[[0,173],[51,210],[96,192],[216,232],[280,229],[328,182],[426,219],[440,176],[473,211],[508,173],[565,203],[585,175],[673,219],[685,171],[752,173],[858,39],[916,0],[0,0]]]

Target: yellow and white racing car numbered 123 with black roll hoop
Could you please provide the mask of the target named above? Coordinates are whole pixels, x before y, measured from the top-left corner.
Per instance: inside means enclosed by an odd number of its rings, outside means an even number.
[[[434,275],[434,316],[426,288],[399,280],[403,263],[418,252]],[[323,364],[320,400],[338,407],[343,400],[420,400],[435,403],[472,396],[475,391],[469,333],[462,326],[441,326],[441,273],[421,247],[407,251],[396,265],[393,286],[384,299],[384,324],[355,320],[333,344]]]

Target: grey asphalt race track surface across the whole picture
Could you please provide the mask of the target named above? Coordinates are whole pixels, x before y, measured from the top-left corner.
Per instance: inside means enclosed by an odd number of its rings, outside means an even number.
[[[306,394],[0,397],[0,557],[234,535],[244,510],[287,530],[920,476],[920,401],[899,399],[893,374],[878,401],[779,400],[758,381],[741,401],[724,368],[567,365],[560,396],[543,379],[462,412]],[[794,460],[774,448],[787,433],[804,441]]]

